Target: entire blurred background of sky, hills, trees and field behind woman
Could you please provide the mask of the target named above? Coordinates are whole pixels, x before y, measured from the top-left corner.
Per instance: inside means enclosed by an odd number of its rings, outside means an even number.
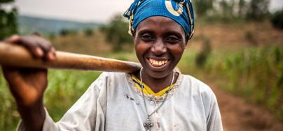
[[[1,0],[0,39],[37,31],[57,50],[137,61],[122,14],[132,1]],[[195,36],[179,63],[216,93],[224,130],[283,130],[283,1],[193,0]],[[3,58],[1,58],[3,59]],[[55,121],[101,72],[49,70]],[[0,130],[20,116],[0,72]]]

